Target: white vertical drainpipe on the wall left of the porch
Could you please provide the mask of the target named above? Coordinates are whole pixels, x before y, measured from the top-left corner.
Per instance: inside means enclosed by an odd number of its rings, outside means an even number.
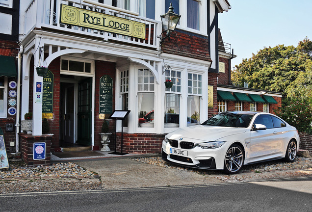
[[[20,132],[20,93],[21,93],[21,60],[24,52],[24,46],[20,46],[20,52],[17,55],[17,98],[16,98],[16,152],[19,152],[19,132]]]

